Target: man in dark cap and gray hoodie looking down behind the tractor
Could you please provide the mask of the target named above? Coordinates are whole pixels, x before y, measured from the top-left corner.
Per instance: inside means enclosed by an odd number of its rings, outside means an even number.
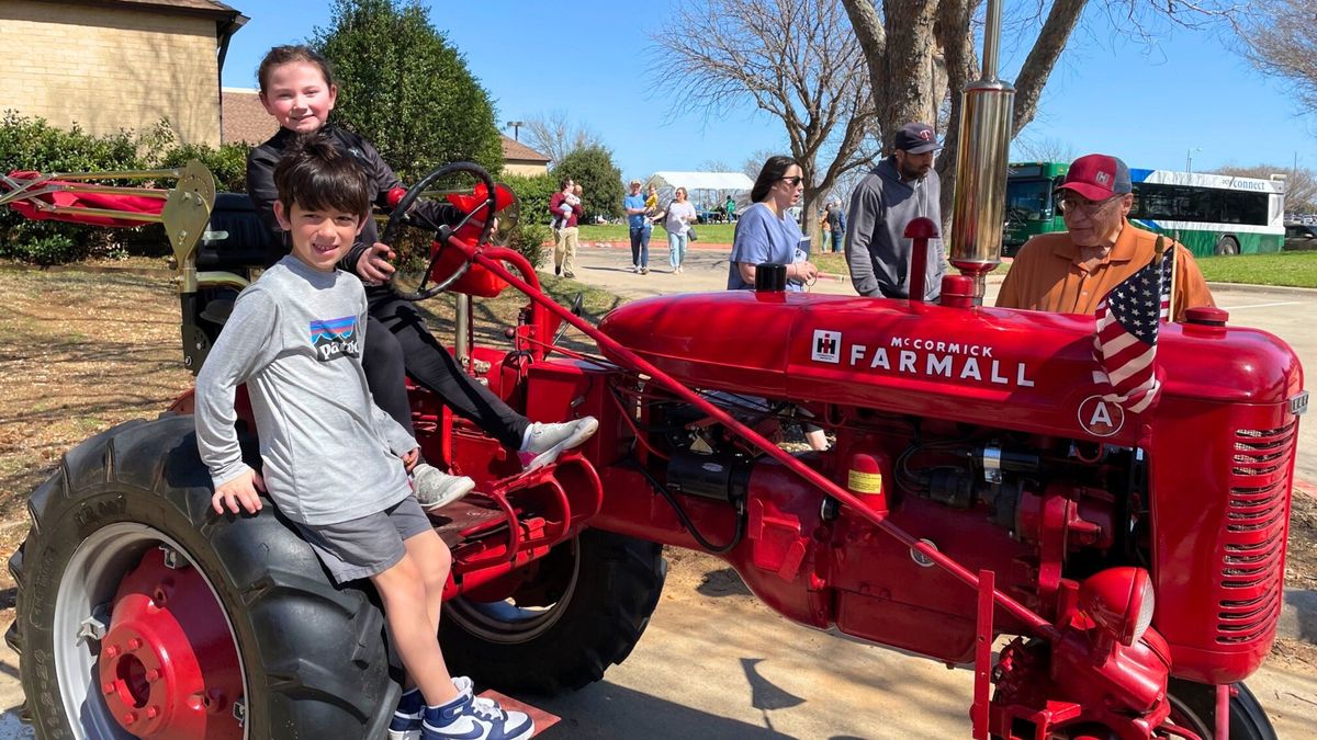
[[[846,262],[860,295],[909,298],[910,240],[906,224],[923,216],[942,228],[942,182],[932,158],[942,149],[932,126],[906,124],[897,129],[892,155],[878,162],[860,180],[851,196],[851,221],[846,232]],[[947,261],[942,240],[928,240],[923,279],[925,299],[942,294]]]

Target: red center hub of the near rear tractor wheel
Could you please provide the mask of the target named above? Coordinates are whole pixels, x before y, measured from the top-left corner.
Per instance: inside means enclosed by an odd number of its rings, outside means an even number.
[[[100,693],[137,737],[238,740],[242,672],[228,623],[202,574],[171,554],[149,549],[120,582],[100,641]]]

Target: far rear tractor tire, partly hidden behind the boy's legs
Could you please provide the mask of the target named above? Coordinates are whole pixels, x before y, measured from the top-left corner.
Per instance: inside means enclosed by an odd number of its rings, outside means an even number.
[[[631,654],[658,606],[661,552],[589,529],[549,553],[511,598],[452,599],[439,631],[448,664],[512,691],[556,694],[599,681]]]

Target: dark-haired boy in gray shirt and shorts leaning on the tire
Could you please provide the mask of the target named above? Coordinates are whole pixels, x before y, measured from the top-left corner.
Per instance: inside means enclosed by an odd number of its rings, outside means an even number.
[[[215,511],[254,514],[267,490],[336,582],[370,578],[408,678],[390,736],[523,740],[533,724],[471,695],[435,633],[452,556],[412,495],[416,440],[377,407],[361,367],[366,294],[335,269],[369,219],[370,186],[324,137],[299,142],[274,172],[275,215],[292,253],[238,296],[196,378],[196,438]],[[242,462],[234,391],[246,383],[263,474]]]

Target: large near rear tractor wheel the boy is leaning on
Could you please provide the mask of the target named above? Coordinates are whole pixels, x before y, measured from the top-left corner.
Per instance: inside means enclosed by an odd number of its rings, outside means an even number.
[[[33,492],[9,639],[38,737],[382,735],[398,686],[373,594],[336,589],[269,502],[219,516],[211,494],[191,416],[92,437]]]

